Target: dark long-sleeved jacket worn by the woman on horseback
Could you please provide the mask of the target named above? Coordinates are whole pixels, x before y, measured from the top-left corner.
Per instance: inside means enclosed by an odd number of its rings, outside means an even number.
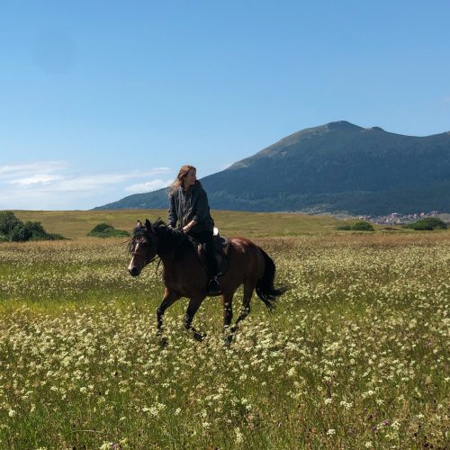
[[[181,227],[187,225],[191,220],[197,222],[191,229],[193,233],[198,231],[212,231],[214,220],[211,218],[208,196],[198,181],[187,191],[179,186],[175,193],[169,196],[168,222],[174,227],[178,221]]]

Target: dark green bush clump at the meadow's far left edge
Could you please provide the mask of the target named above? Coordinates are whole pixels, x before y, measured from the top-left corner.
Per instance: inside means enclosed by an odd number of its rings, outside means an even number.
[[[56,233],[48,233],[38,221],[23,222],[15,216],[13,211],[0,211],[0,242],[56,239],[64,239],[64,237]]]

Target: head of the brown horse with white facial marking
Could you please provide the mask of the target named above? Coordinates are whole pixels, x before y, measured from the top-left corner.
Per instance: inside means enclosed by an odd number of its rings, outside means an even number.
[[[148,219],[145,220],[145,225],[138,220],[130,239],[129,250],[131,261],[128,271],[132,276],[138,276],[142,269],[157,257],[157,235]]]

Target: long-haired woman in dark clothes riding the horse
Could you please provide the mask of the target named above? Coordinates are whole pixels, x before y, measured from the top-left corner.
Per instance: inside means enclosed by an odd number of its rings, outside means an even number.
[[[182,166],[169,193],[169,226],[175,228],[178,221],[184,233],[189,233],[198,240],[208,261],[210,282],[209,293],[220,293],[217,281],[218,267],[214,257],[212,230],[214,220],[211,218],[208,197],[197,180],[197,170],[194,166]]]

